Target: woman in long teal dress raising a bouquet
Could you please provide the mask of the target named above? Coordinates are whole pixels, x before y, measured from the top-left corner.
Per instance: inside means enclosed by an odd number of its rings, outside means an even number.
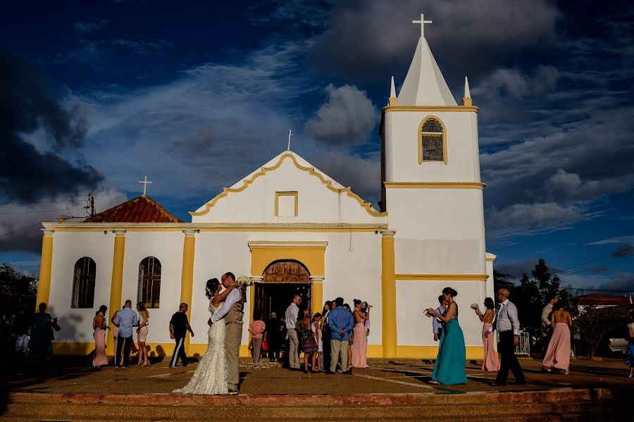
[[[454,302],[458,292],[446,287],[442,289],[442,295],[449,302],[445,314],[441,315],[432,308],[427,309],[428,315],[445,323],[445,328],[440,335],[440,346],[430,384],[466,384],[464,335],[458,324],[458,305]]]

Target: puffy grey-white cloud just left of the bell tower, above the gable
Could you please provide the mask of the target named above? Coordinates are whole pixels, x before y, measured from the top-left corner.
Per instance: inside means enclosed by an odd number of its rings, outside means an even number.
[[[326,87],[328,100],[306,122],[306,131],[324,143],[354,145],[368,140],[378,110],[365,91],[355,86]]]

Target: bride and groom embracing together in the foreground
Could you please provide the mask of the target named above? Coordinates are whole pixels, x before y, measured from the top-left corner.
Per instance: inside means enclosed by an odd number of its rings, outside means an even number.
[[[221,278],[207,281],[205,295],[209,299],[209,345],[192,379],[182,394],[237,395],[240,383],[240,343],[244,290],[228,272]],[[222,290],[223,287],[225,290]]]

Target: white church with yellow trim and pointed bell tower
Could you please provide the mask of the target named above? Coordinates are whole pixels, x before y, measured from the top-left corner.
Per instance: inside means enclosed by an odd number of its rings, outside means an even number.
[[[180,302],[196,334],[187,354],[202,355],[205,283],[232,271],[251,279],[245,325],[256,311],[283,315],[294,293],[311,314],[338,296],[366,300],[368,357],[434,358],[423,309],[451,286],[466,357],[482,358],[469,305],[493,297],[495,255],[485,250],[478,108],[466,78],[456,103],[424,37],[428,21],[415,23],[414,58],[398,95],[392,77],[381,113],[380,209],[289,148],[189,212],[191,222],[145,193],[83,222],[44,222],[37,303],[58,317],[56,354],[89,353],[99,305],[111,315],[130,299],[149,310],[150,356],[171,354],[168,325]],[[245,327],[242,356],[248,344]]]

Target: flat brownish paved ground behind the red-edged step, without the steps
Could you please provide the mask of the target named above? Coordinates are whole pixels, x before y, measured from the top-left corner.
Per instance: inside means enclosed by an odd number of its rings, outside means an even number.
[[[370,395],[432,393],[464,394],[468,392],[522,392],[567,389],[632,389],[623,359],[600,362],[582,359],[571,361],[570,373],[542,373],[541,362],[520,359],[526,385],[514,385],[509,376],[506,387],[494,387],[495,372],[481,370],[480,361],[466,364],[468,384],[429,385],[433,371],[430,361],[415,359],[368,359],[367,369],[354,369],[352,375],[307,373],[284,369],[277,362],[240,363],[241,395]],[[6,386],[11,392],[75,394],[154,394],[169,393],[187,384],[197,363],[187,367],[168,367],[168,360],[151,366],[115,369],[105,366],[92,369],[86,358],[56,357],[41,367],[30,368],[23,376],[13,376]]]

